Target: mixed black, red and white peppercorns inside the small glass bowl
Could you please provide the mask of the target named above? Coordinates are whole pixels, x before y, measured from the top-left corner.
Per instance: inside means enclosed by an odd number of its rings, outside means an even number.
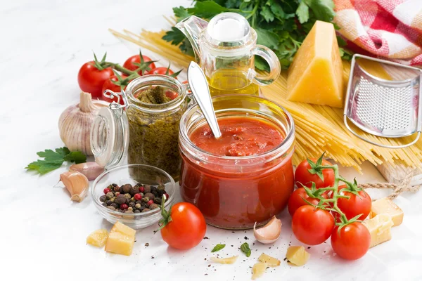
[[[110,210],[133,214],[159,208],[162,195],[169,197],[163,184],[153,186],[127,183],[119,186],[113,183],[104,188],[104,195],[100,197],[100,201]]]

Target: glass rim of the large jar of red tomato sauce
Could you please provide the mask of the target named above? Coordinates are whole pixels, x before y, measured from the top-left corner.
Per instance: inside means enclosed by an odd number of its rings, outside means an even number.
[[[198,105],[195,105],[191,108],[189,108],[188,110],[186,110],[186,112],[184,112],[184,115],[182,115],[181,120],[180,120],[180,126],[179,126],[179,132],[180,132],[180,136],[181,136],[181,141],[184,141],[184,143],[187,143],[190,148],[192,148],[194,150],[194,152],[200,152],[203,153],[205,155],[208,155],[214,159],[217,160],[230,160],[230,161],[249,161],[249,160],[256,160],[256,159],[264,159],[266,157],[271,157],[271,155],[279,155],[279,153],[283,153],[288,151],[288,149],[291,147],[291,145],[293,145],[294,139],[295,139],[295,123],[293,121],[293,117],[290,115],[290,112],[288,112],[286,110],[286,108],[282,107],[281,105],[279,105],[278,103],[275,103],[272,100],[269,100],[268,98],[262,98],[262,97],[258,97],[258,96],[251,96],[251,95],[243,95],[243,94],[228,94],[228,95],[222,95],[222,96],[217,96],[215,98],[212,98],[212,100],[214,101],[217,98],[255,98],[257,100],[262,100],[265,101],[265,103],[269,103],[269,104],[273,104],[276,107],[279,107],[279,109],[281,110],[281,112],[283,112],[283,114],[286,116],[286,121],[289,124],[288,127],[288,131],[283,130],[286,133],[286,137],[283,139],[283,141],[279,144],[276,145],[276,147],[272,148],[271,150],[267,150],[265,152],[256,154],[256,155],[250,155],[250,156],[226,156],[226,155],[216,155],[213,154],[211,152],[207,152],[206,150],[203,150],[202,148],[199,148],[198,146],[196,146],[191,139],[188,136],[188,131],[187,131],[187,127],[186,126],[186,122],[187,122],[187,118],[190,112],[194,112],[196,110],[199,109]],[[236,108],[232,108],[232,109],[224,109],[224,111],[228,111],[228,110],[236,110]],[[247,111],[244,108],[238,108],[238,110],[243,110],[243,111]],[[220,112],[221,110],[217,110],[216,113]],[[259,111],[257,111],[259,113]],[[262,113],[261,113],[262,114]],[[205,117],[200,117],[200,121],[203,121],[205,119]],[[218,117],[217,117],[218,119]],[[273,117],[274,119],[274,117]],[[275,120],[271,120],[271,121],[275,121]],[[276,124],[276,122],[274,122],[274,124]],[[279,129],[280,125],[276,124],[277,127]],[[272,157],[271,157],[272,159]],[[270,159],[270,160],[271,160]],[[253,161],[254,164],[256,164],[256,161]]]

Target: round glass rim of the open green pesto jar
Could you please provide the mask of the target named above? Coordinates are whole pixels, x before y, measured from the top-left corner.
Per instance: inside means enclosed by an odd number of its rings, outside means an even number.
[[[167,85],[166,85],[167,84]],[[134,91],[141,87],[147,86],[164,86],[171,89],[171,85],[177,88],[177,98],[170,100],[167,103],[151,104],[143,103],[138,98],[134,97]],[[173,89],[174,90],[174,89]],[[123,90],[122,90],[123,91]],[[124,90],[125,95],[129,100],[127,107],[136,107],[139,110],[146,112],[165,112],[167,110],[173,110],[181,105],[186,98],[186,86],[174,77],[162,74],[148,74],[141,77],[137,77],[130,81],[127,88]]]

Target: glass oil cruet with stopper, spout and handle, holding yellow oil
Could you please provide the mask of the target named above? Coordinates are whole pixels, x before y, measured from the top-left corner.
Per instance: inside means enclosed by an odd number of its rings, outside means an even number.
[[[279,77],[280,62],[266,46],[257,45],[257,32],[237,13],[220,13],[207,22],[195,15],[176,25],[192,44],[197,63],[210,85],[211,96],[259,95],[259,86]],[[254,55],[267,61],[268,74],[255,72]]]

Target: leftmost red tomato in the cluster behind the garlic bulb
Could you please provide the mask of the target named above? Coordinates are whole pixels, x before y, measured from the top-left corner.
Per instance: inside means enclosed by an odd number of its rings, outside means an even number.
[[[103,70],[98,70],[94,66],[94,62],[84,63],[79,73],[77,74],[77,82],[79,88],[87,93],[91,93],[92,98],[101,98],[103,92],[104,82],[114,75],[111,67],[107,67]]]

